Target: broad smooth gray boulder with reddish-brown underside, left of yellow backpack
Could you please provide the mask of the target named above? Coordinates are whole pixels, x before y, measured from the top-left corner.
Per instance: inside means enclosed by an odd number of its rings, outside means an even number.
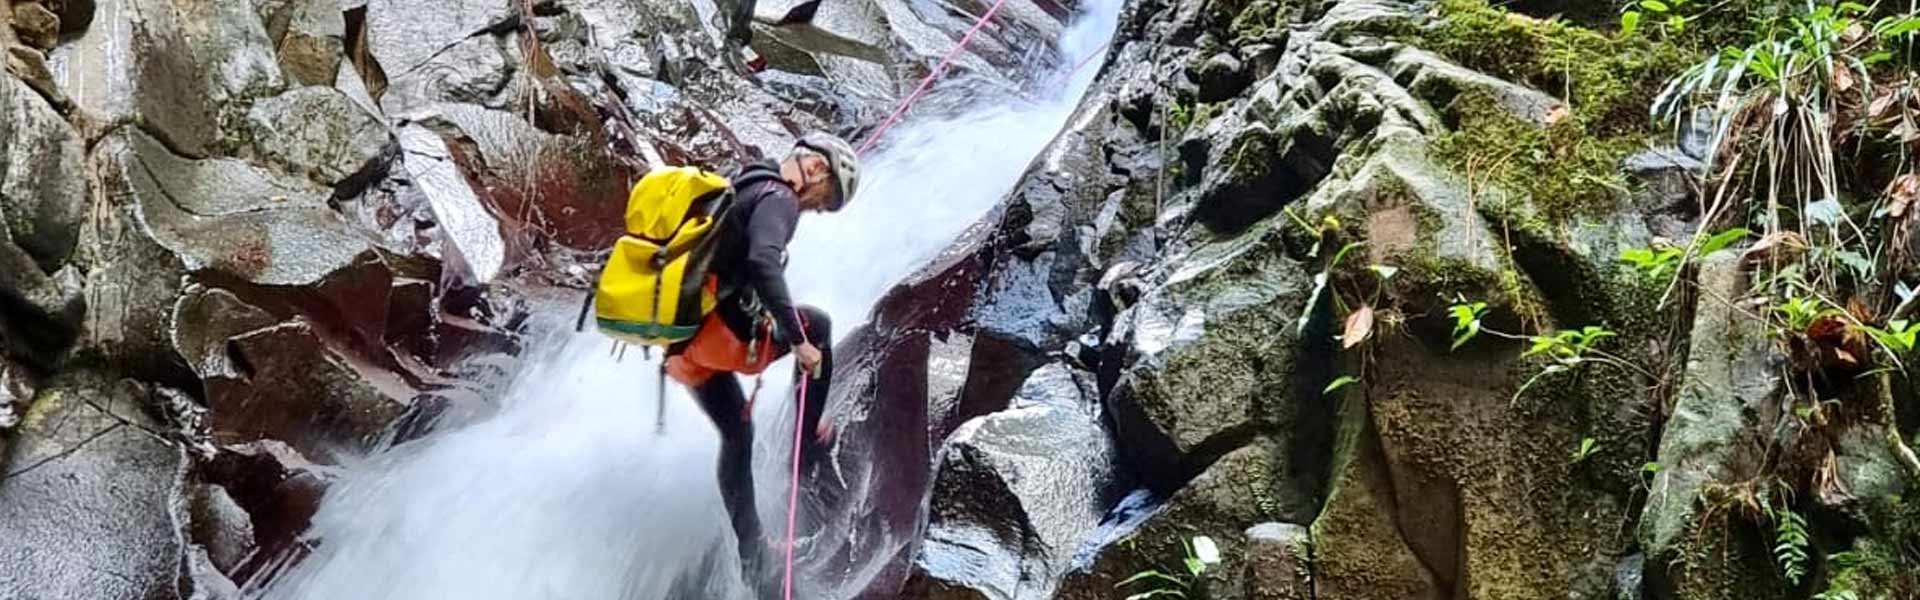
[[[117,252],[90,275],[86,342],[144,377],[196,377],[179,348],[184,277],[232,288],[276,315],[307,315],[371,365],[394,367],[382,340],[397,265],[374,238],[326,208],[326,190],[236,160],[186,160],[121,131],[96,148],[119,204],[102,231]],[[428,269],[432,271],[432,269]],[[177,335],[186,329],[186,335]]]

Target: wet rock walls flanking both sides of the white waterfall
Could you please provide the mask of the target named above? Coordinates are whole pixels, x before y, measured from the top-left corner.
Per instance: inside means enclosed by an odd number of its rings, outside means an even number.
[[[240,596],[311,550],[338,463],[499,392],[649,162],[852,137],[993,6],[768,23],[793,4],[760,6],[758,75],[710,2],[8,4],[0,590]],[[1622,185],[1572,213],[1490,179],[1511,148],[1463,158],[1476,119],[1542,156],[1642,129],[1434,37],[1611,10],[1461,6],[1131,2],[1006,200],[839,344],[806,502],[843,535],[799,556],[828,596],[1114,598],[1158,569],[1190,598],[1774,598],[1768,517],[1728,510],[1770,431],[1820,465],[1795,500],[1820,556],[1910,560],[1912,387],[1805,425],[1740,248],[1655,308],[1617,262],[1722,225],[1711,127],[1586,173]],[[945,85],[1046,85],[1073,8],[1008,0]],[[1457,302],[1484,302],[1473,340]],[[1628,365],[1519,340],[1584,325]],[[1198,575],[1194,537],[1223,556]],[[1816,562],[1807,587],[1837,577]]]

